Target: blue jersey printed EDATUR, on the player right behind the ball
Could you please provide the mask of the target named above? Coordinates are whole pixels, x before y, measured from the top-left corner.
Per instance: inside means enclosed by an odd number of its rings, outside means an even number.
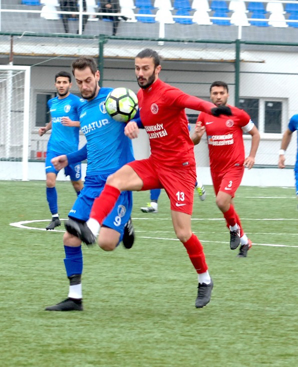
[[[100,88],[98,95],[79,107],[81,130],[87,140],[87,175],[113,173],[134,160],[132,142],[124,135],[125,123],[106,112],[105,100],[112,88]]]

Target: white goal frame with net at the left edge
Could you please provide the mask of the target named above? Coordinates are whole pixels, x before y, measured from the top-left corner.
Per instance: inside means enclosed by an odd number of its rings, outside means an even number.
[[[2,179],[28,180],[30,78],[30,66],[0,65]]]

